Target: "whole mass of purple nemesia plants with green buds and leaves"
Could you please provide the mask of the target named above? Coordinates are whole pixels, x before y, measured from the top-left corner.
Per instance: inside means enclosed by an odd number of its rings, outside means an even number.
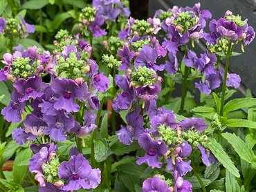
[[[228,10],[208,24],[212,15],[200,3],[157,10],[147,20],[129,17],[127,7],[93,0],[77,17],[80,33],[57,32],[52,52],[28,46],[3,55],[0,81],[12,81],[13,89],[1,115],[14,125],[15,161],[28,154],[14,169],[26,166],[22,180],[29,177],[41,192],[253,189],[245,169],[256,168],[256,123],[249,118],[256,100],[226,102],[234,93],[228,88],[241,83],[228,73],[230,57],[239,55],[234,48],[244,52],[255,37],[248,20]],[[0,17],[0,32],[34,32],[19,19]],[[199,39],[203,52],[196,52]],[[175,100],[176,84],[182,93]],[[237,118],[233,111],[245,107],[248,119]],[[237,127],[249,128],[241,129],[245,142]],[[241,166],[224,151],[228,143]],[[0,173],[3,189],[26,189]]]

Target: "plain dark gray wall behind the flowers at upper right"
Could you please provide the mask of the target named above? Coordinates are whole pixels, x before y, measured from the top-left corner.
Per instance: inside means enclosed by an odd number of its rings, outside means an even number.
[[[193,6],[199,1],[194,0],[149,0],[149,17],[159,8],[166,10],[172,6]],[[242,19],[248,18],[248,23],[256,30],[256,0],[203,0],[201,9],[208,9],[212,13],[212,19],[223,17],[226,10],[234,15],[241,15]],[[230,72],[240,75],[242,84],[240,90],[245,92],[250,88],[253,95],[256,95],[256,39],[245,49],[242,55],[232,57],[230,61]],[[237,52],[241,52],[238,48]]]

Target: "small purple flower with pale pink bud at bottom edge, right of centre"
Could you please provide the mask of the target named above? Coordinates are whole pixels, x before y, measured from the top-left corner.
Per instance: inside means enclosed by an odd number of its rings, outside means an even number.
[[[176,192],[192,192],[192,184],[178,176],[178,171],[172,173]]]

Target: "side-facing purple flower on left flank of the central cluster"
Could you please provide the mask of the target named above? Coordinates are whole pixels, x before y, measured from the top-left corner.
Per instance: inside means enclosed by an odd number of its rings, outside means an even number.
[[[117,93],[117,97],[113,99],[113,109],[119,113],[119,111],[127,110],[134,101],[135,93],[134,89],[129,86],[129,81],[125,75],[116,75],[116,84],[123,90],[122,93]]]

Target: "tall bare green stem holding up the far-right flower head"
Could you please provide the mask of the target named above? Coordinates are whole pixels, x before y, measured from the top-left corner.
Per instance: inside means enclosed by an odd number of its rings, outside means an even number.
[[[228,64],[230,61],[230,55],[231,55],[231,45],[232,42],[230,42],[228,44],[228,52],[226,55],[226,65],[225,65],[225,72],[224,72],[224,80],[223,80],[223,84],[222,84],[222,93],[221,93],[221,107],[219,110],[219,115],[223,115],[223,107],[224,107],[224,102],[225,102],[225,92],[226,92],[226,82],[227,82],[227,77],[228,77]]]

